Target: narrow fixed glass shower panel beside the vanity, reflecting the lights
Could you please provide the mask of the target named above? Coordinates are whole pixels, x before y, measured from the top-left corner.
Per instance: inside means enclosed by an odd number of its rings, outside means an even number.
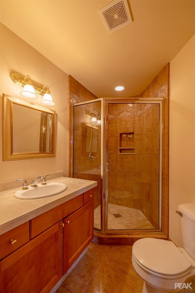
[[[101,230],[101,100],[74,105],[73,177],[97,181],[94,228]]]

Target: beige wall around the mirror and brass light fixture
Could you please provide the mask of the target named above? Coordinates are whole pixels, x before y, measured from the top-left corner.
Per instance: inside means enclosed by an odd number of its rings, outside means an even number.
[[[15,85],[9,77],[12,72],[23,76],[30,75],[30,78],[37,83],[49,86],[55,103],[50,108],[56,111],[56,156],[54,158],[2,161],[2,93],[25,99],[19,94],[21,87]],[[68,75],[1,24],[0,182],[57,171],[63,171],[64,176],[67,176],[67,93]],[[43,106],[40,102],[41,98],[42,96],[38,95],[36,100],[26,100]]]

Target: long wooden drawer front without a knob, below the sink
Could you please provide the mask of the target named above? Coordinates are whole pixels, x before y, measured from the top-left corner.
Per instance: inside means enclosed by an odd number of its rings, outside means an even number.
[[[65,203],[52,208],[36,218],[30,220],[30,239],[42,233],[55,223],[72,214],[83,206],[83,194],[66,201]]]

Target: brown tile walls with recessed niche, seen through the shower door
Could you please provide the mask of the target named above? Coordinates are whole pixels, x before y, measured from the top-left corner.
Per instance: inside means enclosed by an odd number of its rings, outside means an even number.
[[[158,105],[109,104],[108,161],[108,202],[141,210],[158,229]]]

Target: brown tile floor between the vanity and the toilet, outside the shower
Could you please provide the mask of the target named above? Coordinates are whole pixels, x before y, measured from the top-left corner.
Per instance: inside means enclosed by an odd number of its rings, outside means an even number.
[[[141,293],[132,246],[90,243],[87,253],[55,293]]]

